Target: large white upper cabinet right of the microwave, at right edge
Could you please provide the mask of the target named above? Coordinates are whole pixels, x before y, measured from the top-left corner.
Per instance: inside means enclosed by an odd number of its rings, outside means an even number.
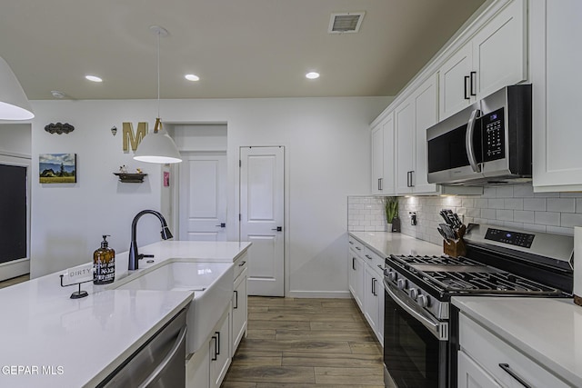
[[[537,192],[582,190],[582,2],[530,3],[533,185]]]

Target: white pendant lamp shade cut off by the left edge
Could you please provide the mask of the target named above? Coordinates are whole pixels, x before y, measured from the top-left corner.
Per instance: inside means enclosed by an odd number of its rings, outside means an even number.
[[[25,91],[6,61],[0,57],[0,119],[28,120],[35,117]]]

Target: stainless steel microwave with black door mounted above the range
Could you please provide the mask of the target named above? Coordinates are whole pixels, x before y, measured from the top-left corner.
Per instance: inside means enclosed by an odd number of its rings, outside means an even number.
[[[428,182],[530,182],[531,89],[531,85],[504,87],[428,128]]]

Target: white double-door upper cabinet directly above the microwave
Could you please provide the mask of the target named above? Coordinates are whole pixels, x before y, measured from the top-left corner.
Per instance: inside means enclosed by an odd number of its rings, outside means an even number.
[[[526,0],[501,9],[438,70],[440,119],[527,79]]]

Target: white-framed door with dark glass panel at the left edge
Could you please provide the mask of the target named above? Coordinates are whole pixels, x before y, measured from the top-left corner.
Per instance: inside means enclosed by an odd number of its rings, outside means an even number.
[[[0,281],[30,273],[30,159],[0,155]]]

